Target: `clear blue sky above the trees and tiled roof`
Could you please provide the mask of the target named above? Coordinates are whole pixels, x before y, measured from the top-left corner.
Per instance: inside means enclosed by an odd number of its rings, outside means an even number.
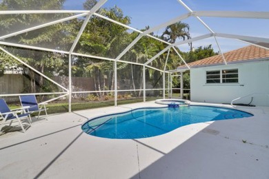
[[[68,10],[82,10],[83,0],[67,0],[65,8]],[[183,0],[192,10],[236,10],[236,11],[268,11],[268,0]],[[170,19],[186,14],[188,11],[181,6],[177,0],[108,0],[103,6],[110,8],[118,6],[123,10],[123,14],[131,17],[133,28],[143,29],[146,25],[154,27],[161,23],[165,23]],[[268,19],[228,19],[228,18],[205,18],[201,17],[210,28],[219,33],[241,34],[248,36],[261,36],[269,38]],[[190,25],[190,33],[192,37],[207,34],[209,31],[204,28],[194,17],[186,19],[182,22]],[[162,30],[156,33],[161,34]],[[219,39],[221,50],[227,52],[236,48],[240,48],[245,43],[235,40]],[[214,39],[206,39],[194,43],[195,47],[200,45],[212,44],[217,48]],[[179,46],[182,50],[188,50],[188,45]],[[219,51],[215,49],[215,51]]]

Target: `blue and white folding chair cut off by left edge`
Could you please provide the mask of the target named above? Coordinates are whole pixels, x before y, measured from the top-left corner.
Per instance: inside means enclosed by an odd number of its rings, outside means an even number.
[[[0,99],[0,119],[2,119],[2,120],[0,120],[0,123],[1,123],[0,131],[1,131],[2,127],[3,127],[3,124],[6,123],[6,121],[10,120],[10,125],[12,125],[13,120],[17,120],[19,122],[19,125],[21,126],[21,129],[23,130],[23,132],[25,132],[26,129],[24,129],[24,127],[23,127],[23,125],[21,123],[21,119],[22,118],[27,118],[28,123],[31,126],[30,113],[25,112],[25,109],[26,109],[26,107],[10,110],[10,108],[6,104],[6,101],[4,101],[1,98]]]

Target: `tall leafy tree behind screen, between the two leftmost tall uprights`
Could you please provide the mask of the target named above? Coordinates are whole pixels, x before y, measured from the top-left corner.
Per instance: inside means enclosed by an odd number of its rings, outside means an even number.
[[[84,8],[91,8],[91,4],[94,3],[91,0],[86,1]],[[99,14],[127,25],[130,23],[130,18],[124,16],[117,6],[100,9]],[[79,23],[83,23],[83,19]],[[129,35],[127,29],[121,25],[93,16],[88,25],[86,25],[76,50],[82,54],[115,59],[130,43]],[[126,65],[117,63],[117,69],[122,69]],[[91,76],[94,78],[94,88],[98,91],[114,89],[114,62],[112,61],[94,60],[78,56],[72,69],[76,70],[76,72],[73,71],[72,73],[74,76]],[[108,78],[106,79],[105,77]],[[101,95],[103,94],[100,93],[99,96]]]

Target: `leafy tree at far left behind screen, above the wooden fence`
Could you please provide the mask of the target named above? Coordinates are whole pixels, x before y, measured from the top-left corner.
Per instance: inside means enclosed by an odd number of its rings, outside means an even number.
[[[61,9],[65,0],[3,0],[0,3],[1,10],[58,10]],[[1,19],[0,27],[2,32],[10,33],[10,30],[17,30],[17,27],[26,29],[32,25],[54,21],[65,17],[65,14],[18,14],[9,15]],[[31,32],[12,36],[5,41],[14,41],[26,45],[37,45],[41,47],[53,47],[59,49],[65,48],[72,43],[74,36],[72,35],[72,23],[57,23],[46,28],[33,30]],[[21,48],[9,48],[9,51],[18,56],[24,62],[34,67],[39,72],[52,76],[53,72],[57,72],[59,67],[64,63],[62,54],[52,52],[40,52],[37,50],[23,50]],[[3,59],[6,61],[7,59]],[[18,64],[21,65],[21,64]],[[44,85],[43,76],[37,75],[28,67],[23,67],[23,74],[30,78],[31,87],[28,92],[47,91],[48,84]],[[38,87],[37,87],[37,86]]]

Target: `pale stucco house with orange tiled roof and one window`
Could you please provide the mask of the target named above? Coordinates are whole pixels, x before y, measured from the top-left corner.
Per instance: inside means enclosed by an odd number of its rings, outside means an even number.
[[[269,106],[269,44],[249,45],[188,63],[190,100]],[[182,65],[177,70],[188,69]],[[246,96],[246,97],[244,97]]]

